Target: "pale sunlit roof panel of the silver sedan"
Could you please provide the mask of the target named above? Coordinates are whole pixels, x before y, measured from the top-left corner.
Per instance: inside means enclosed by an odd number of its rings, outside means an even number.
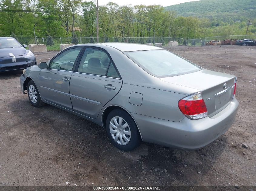
[[[129,51],[139,51],[139,50],[161,50],[157,46],[150,46],[144,44],[135,44],[135,43],[98,43],[104,46],[111,46],[115,49],[120,50],[121,52],[129,52]]]

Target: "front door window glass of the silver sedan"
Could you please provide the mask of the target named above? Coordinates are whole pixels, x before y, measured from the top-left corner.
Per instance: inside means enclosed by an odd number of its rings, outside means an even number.
[[[50,62],[50,69],[72,71],[75,60],[80,53],[81,48],[73,48],[59,54],[55,59]]]

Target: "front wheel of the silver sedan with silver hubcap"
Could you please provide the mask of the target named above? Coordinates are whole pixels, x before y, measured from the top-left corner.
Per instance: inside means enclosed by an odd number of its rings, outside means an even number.
[[[44,102],[42,102],[39,91],[35,85],[35,82],[33,80],[28,82],[28,99],[32,106],[34,107],[42,107],[45,105]]]

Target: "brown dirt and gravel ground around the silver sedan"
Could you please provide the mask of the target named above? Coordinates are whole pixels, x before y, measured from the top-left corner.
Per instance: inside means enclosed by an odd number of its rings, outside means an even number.
[[[32,107],[20,90],[21,71],[1,73],[0,185],[256,186],[256,46],[166,49],[238,77],[240,105],[228,132],[196,151],[143,143],[123,152],[111,145],[105,129],[86,119],[50,105]],[[36,58],[48,61],[55,54]]]

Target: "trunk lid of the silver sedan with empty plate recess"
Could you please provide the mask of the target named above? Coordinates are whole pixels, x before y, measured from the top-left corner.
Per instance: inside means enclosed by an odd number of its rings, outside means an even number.
[[[233,97],[235,76],[229,74],[202,69],[198,72],[160,79],[202,91],[209,117],[223,110]]]

